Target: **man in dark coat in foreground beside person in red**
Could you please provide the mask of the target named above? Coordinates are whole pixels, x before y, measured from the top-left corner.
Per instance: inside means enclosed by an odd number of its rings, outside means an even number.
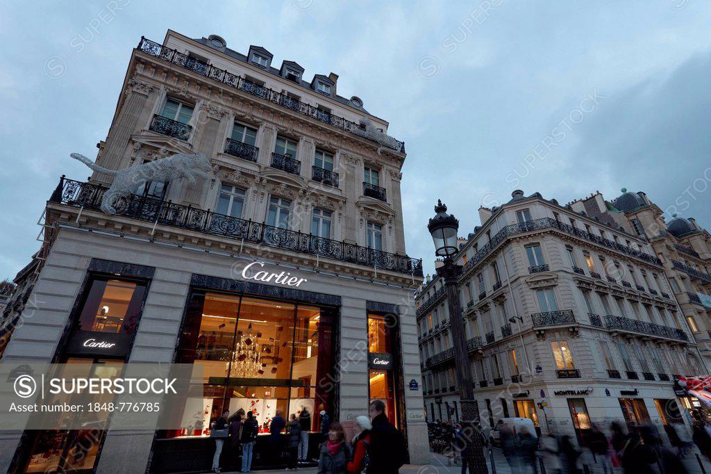
[[[405,464],[407,449],[400,430],[387,420],[382,400],[370,402],[368,409],[373,429],[370,431],[368,474],[397,474]]]

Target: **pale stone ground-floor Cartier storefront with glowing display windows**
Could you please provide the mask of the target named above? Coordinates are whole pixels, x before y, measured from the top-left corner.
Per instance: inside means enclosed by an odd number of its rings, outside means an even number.
[[[424,462],[422,395],[410,383],[420,377],[410,288],[269,257],[60,228],[35,290],[57,295],[68,307],[63,318],[47,323],[60,333],[53,362],[94,362],[107,374],[123,362],[199,364],[203,399],[186,406],[175,430],[6,437],[14,442],[1,443],[5,468],[207,471],[215,448],[210,425],[224,409],[255,414],[255,468],[274,460],[267,437],[277,411],[287,419],[309,411],[309,451],[316,458],[319,413],[348,429],[375,399],[385,401],[387,416],[405,432],[411,462]],[[35,321],[31,329],[41,326]],[[31,351],[27,330],[15,331],[5,362]],[[235,470],[229,445],[222,465]]]

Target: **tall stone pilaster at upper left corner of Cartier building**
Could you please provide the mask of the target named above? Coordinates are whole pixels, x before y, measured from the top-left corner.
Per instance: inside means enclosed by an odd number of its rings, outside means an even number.
[[[146,107],[149,95],[155,90],[154,86],[146,84],[135,78],[129,80],[126,88],[127,97],[124,99],[116,121],[109,131],[106,147],[101,154],[98,164],[108,169],[122,167],[122,158],[129,146],[129,140],[134,132],[142,128],[140,117]],[[103,184],[109,184],[113,179],[106,174],[94,173],[92,179]]]

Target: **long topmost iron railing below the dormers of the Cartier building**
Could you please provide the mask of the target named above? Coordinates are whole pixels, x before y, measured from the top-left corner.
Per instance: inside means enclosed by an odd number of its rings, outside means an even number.
[[[227,70],[215,68],[215,66],[204,63],[201,60],[190,58],[180,51],[162,46],[155,41],[150,41],[149,39],[141,37],[141,42],[138,44],[137,49],[168,63],[191,70],[193,73],[216,80],[219,83],[230,86],[231,88],[242,90],[242,92],[250,95],[255,95],[256,97],[267,100],[272,104],[277,104],[298,114],[306,115],[312,119],[325,122],[328,125],[350,132],[353,135],[363,137],[364,127],[360,124],[351,122],[351,120],[346,120],[343,117],[338,117],[337,115],[333,115],[331,113],[326,113],[323,110],[319,110],[318,107],[309,105],[306,102],[301,102],[301,100],[290,98],[286,94],[265,88],[263,85],[252,83],[250,80],[240,78],[240,76],[230,73]],[[396,150],[404,153],[405,143],[398,140],[395,140],[395,143],[397,144]]]

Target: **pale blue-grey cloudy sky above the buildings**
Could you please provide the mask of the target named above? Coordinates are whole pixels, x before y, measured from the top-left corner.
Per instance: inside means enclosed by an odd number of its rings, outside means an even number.
[[[0,279],[38,249],[68,157],[95,158],[141,35],[212,33],[337,73],[405,140],[407,253],[431,272],[437,198],[466,235],[513,189],[561,203],[643,190],[711,227],[711,4],[644,1],[6,2]]]

